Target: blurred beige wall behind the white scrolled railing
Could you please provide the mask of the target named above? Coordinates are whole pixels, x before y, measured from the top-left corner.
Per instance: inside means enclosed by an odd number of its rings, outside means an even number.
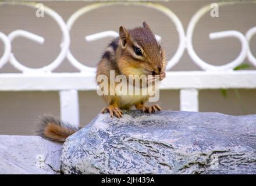
[[[168,6],[182,20],[186,29],[191,16],[203,5],[212,1],[172,1],[161,2]],[[65,21],[81,6],[88,2],[45,2],[56,10]],[[194,48],[198,55],[214,65],[223,65],[236,58],[240,52],[240,43],[236,39],[210,41],[208,34],[214,31],[238,30],[242,33],[256,26],[256,4],[233,5],[220,8],[219,17],[205,15],[195,28]],[[162,36],[162,45],[168,57],[177,49],[179,39],[173,23],[156,10],[135,6],[112,6],[98,9],[81,17],[71,31],[71,50],[74,56],[84,64],[96,66],[108,39],[88,44],[84,35],[104,30],[116,30],[120,25],[128,28],[140,26],[143,20],[150,24],[155,34]],[[24,29],[42,35],[44,45],[38,45],[24,38],[13,42],[13,51],[24,65],[41,67],[54,60],[59,52],[61,32],[57,24],[49,18],[36,17],[35,11],[23,6],[0,6],[0,31],[5,34],[16,29]],[[251,51],[256,53],[256,37],[251,40]],[[0,53],[3,45],[0,43]],[[0,54],[1,55],[1,54]],[[247,62],[247,60],[245,61]],[[252,70],[255,68],[252,68]],[[172,69],[200,70],[191,61],[187,52]],[[67,60],[55,71],[77,71]],[[0,73],[17,72],[9,64],[0,69]],[[223,97],[219,90],[200,91],[200,111],[223,112],[232,115],[256,113],[256,90],[239,90],[241,100],[234,90],[227,91]],[[80,120],[87,124],[102,109],[104,102],[94,91],[80,92]],[[179,110],[179,91],[161,91],[160,101],[163,109]],[[58,92],[0,92],[0,134],[32,134],[38,117],[44,114],[59,116]]]

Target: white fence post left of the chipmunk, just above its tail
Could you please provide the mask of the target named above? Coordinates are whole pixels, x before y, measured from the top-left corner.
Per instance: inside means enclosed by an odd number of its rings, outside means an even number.
[[[59,91],[61,120],[79,126],[79,95],[76,90]]]

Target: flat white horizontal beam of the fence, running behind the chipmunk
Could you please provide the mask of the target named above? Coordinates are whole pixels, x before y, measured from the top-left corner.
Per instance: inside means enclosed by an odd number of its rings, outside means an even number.
[[[256,71],[172,71],[161,81],[162,90],[195,88],[256,88]],[[94,74],[0,74],[0,91],[96,90]]]

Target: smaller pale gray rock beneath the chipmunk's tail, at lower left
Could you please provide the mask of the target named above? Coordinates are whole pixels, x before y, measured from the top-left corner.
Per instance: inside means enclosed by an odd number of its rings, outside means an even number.
[[[0,174],[59,174],[61,149],[38,136],[0,135]]]

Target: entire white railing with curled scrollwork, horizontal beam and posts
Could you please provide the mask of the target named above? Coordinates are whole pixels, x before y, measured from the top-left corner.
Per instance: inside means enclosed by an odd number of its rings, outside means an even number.
[[[38,9],[38,4],[31,2],[0,2],[0,5],[10,3],[12,5],[30,6]],[[218,2],[218,6],[232,5],[233,3],[244,2]],[[251,3],[256,3],[253,1]],[[244,35],[236,30],[220,31],[218,33],[209,34],[211,40],[221,39],[225,37],[234,37],[241,42],[241,52],[232,62],[222,66],[214,66],[202,60],[193,48],[193,32],[197,22],[205,13],[211,10],[211,5],[198,10],[191,18],[187,32],[185,33],[179,17],[158,3],[151,2],[98,2],[85,6],[70,16],[65,23],[61,16],[54,10],[44,6],[44,12],[47,13],[59,25],[62,31],[61,52],[58,57],[49,65],[39,69],[33,69],[22,65],[12,53],[12,41],[16,37],[26,37],[27,39],[43,44],[44,38],[24,30],[15,30],[5,35],[0,32],[0,39],[4,44],[4,52],[0,58],[0,68],[6,63],[10,63],[22,73],[2,73],[0,74],[0,91],[59,91],[61,101],[61,118],[76,125],[79,124],[79,98],[77,91],[95,90],[95,68],[83,65],[77,60],[69,50],[70,35],[74,22],[80,16],[93,11],[94,9],[103,8],[112,5],[136,5],[145,6],[151,9],[157,9],[164,15],[169,17],[175,24],[179,34],[179,46],[175,55],[169,60],[167,70],[172,69],[184,51],[187,49],[193,62],[200,66],[203,71],[168,71],[165,80],[161,83],[162,89],[180,90],[180,110],[198,111],[198,90],[202,89],[218,89],[218,88],[256,88],[256,71],[243,70],[233,71],[233,68],[240,65],[244,59],[248,60],[256,66],[256,58],[250,51],[251,37],[256,33],[256,27],[251,28]],[[256,5],[256,4],[255,4]],[[42,8],[42,7],[41,7]],[[104,31],[87,35],[87,41],[99,40],[104,37],[118,37],[115,31]],[[161,40],[159,35],[156,35],[157,40]],[[80,70],[80,73],[52,73],[56,67],[61,65],[63,60],[67,58],[69,62]]]

